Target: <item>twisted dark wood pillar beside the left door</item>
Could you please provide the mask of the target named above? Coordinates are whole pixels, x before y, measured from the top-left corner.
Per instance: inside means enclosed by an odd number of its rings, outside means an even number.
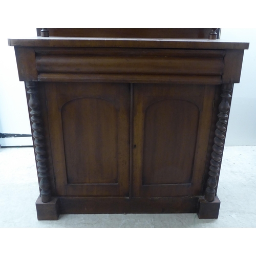
[[[37,160],[37,172],[40,178],[39,187],[41,189],[40,196],[43,203],[51,201],[50,182],[48,180],[47,157],[45,151],[44,134],[42,129],[41,111],[39,108],[39,99],[37,96],[37,83],[25,82],[30,94],[29,107],[31,108],[31,121],[35,145],[35,153]]]

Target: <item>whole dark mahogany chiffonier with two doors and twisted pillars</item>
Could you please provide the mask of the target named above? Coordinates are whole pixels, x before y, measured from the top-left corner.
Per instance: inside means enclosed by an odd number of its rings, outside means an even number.
[[[218,218],[233,83],[249,44],[216,39],[216,29],[37,31],[8,41],[27,90],[38,220]]]

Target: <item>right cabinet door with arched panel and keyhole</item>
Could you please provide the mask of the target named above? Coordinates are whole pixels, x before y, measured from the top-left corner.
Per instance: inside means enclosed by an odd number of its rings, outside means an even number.
[[[133,197],[200,195],[215,90],[134,84]]]

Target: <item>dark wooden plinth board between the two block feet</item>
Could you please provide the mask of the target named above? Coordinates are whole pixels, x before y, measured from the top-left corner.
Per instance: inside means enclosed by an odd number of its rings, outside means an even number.
[[[59,198],[60,214],[170,214],[196,213],[198,197],[163,198]]]

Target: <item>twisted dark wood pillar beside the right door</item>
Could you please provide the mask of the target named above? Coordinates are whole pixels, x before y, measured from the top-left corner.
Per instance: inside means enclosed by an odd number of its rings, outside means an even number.
[[[220,170],[220,162],[222,160],[222,152],[223,152],[223,146],[224,146],[224,139],[225,135],[223,134],[226,132],[226,124],[227,124],[227,112],[230,109],[230,105],[228,103],[228,99],[231,98],[231,93],[233,88],[232,84],[223,84],[222,85],[222,101],[219,105],[219,111],[218,114],[219,121],[216,123],[217,129],[215,131],[216,137],[214,138],[214,146],[212,146],[212,153],[211,153],[211,160],[210,160],[210,171],[209,171],[209,178],[207,180],[207,188],[205,190],[205,200],[208,202],[212,202],[215,199],[216,194],[216,187],[218,185],[217,183],[217,177],[219,176],[219,170]]]

